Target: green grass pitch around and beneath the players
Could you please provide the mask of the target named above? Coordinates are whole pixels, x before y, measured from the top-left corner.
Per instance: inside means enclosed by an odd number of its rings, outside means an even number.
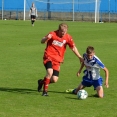
[[[109,69],[109,85],[105,97],[93,97],[93,87],[86,88],[89,97],[78,100],[66,94],[81,81],[76,77],[80,63],[67,48],[59,80],[49,85],[49,97],[37,92],[37,80],[45,75],[40,40],[56,30],[60,21],[0,21],[0,117],[117,117],[117,24],[66,22],[68,32],[83,54],[88,45]],[[104,77],[104,72],[101,70]]]

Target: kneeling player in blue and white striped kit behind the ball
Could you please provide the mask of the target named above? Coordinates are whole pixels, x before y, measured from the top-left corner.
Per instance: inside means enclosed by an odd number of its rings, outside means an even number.
[[[94,90],[97,91],[97,96],[99,98],[104,97],[103,91],[103,78],[100,76],[100,68],[105,72],[105,86],[109,87],[108,78],[109,71],[105,67],[105,65],[101,62],[101,60],[95,55],[94,47],[88,46],[86,49],[86,53],[83,54],[84,62],[81,64],[80,69],[77,72],[77,76],[80,76],[80,73],[85,66],[84,76],[82,78],[82,82],[75,89],[68,89],[66,92],[71,92],[73,94],[77,94],[77,92],[85,87],[94,87]]]

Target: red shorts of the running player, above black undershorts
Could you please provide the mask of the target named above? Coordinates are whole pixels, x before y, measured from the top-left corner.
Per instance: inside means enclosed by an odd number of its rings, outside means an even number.
[[[52,62],[52,69],[60,71],[60,62],[57,62],[50,57],[44,56],[43,63],[46,64],[48,61]]]

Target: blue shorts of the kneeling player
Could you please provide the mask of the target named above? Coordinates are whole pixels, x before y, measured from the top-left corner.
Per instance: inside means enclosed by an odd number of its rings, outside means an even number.
[[[101,77],[97,80],[89,79],[86,76],[83,77],[82,85],[85,87],[91,87],[93,85],[95,90],[96,87],[102,86],[102,84],[103,84],[103,79]]]

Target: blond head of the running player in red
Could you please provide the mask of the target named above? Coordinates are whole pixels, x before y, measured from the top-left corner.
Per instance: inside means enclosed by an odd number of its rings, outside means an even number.
[[[67,33],[67,29],[68,29],[67,24],[65,24],[65,23],[59,24],[59,28],[58,28],[59,36],[60,37],[64,36]]]

